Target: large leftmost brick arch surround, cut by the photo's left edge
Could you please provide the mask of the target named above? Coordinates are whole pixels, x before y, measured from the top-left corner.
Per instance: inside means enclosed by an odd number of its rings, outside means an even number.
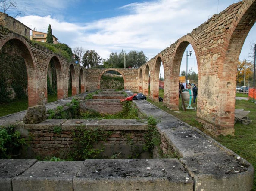
[[[31,50],[31,47],[27,40],[16,34],[9,33],[6,36],[1,38],[0,41],[0,49],[7,43],[8,41],[12,41],[18,45],[20,48],[21,56],[25,61],[25,65],[27,68],[27,89],[28,89],[28,106],[31,107],[33,105],[39,104],[39,96],[37,92],[37,84],[36,84],[36,62]]]

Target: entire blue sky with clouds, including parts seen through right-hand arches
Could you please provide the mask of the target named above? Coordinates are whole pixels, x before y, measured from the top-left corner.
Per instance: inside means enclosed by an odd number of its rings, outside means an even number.
[[[92,49],[107,58],[122,49],[142,50],[150,59],[183,35],[223,11],[238,0],[16,0],[24,14],[17,17],[25,25],[53,34],[71,48]],[[9,13],[11,16],[13,13]],[[247,58],[249,33],[240,60]],[[191,46],[187,50],[192,49]],[[186,70],[186,51],[181,71]],[[195,53],[188,68],[197,72]],[[163,73],[161,71],[161,73]],[[161,74],[161,76],[163,76]]]

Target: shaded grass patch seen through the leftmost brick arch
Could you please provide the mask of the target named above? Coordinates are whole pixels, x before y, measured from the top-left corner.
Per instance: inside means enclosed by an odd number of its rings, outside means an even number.
[[[14,100],[8,103],[0,103],[0,117],[13,114],[28,108],[28,99]]]

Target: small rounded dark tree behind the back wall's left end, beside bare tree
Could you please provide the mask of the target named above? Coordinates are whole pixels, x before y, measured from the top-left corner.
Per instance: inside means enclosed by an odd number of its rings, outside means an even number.
[[[101,63],[101,57],[94,50],[87,50],[82,60],[85,68],[94,68]]]

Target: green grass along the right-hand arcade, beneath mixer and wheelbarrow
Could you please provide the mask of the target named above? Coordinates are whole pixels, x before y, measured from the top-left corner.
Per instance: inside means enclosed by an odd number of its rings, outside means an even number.
[[[163,90],[159,90],[159,96],[164,97]],[[200,130],[203,130],[201,123],[198,123],[195,120],[195,111],[183,111],[181,109],[181,99],[179,100],[179,113],[168,109],[166,106],[163,105],[162,102],[152,102],[149,99],[148,101],[158,106],[162,110],[166,111],[167,113],[172,114],[180,120],[185,121],[189,125],[197,127]],[[214,139],[216,139],[220,144],[224,145],[225,147],[233,150],[239,156],[246,159],[254,166],[254,169],[256,169],[256,105],[248,100],[236,100],[235,107],[250,110],[251,113],[248,114],[248,117],[252,120],[252,122],[249,125],[243,125],[241,122],[237,121],[234,126],[235,136],[220,135]],[[254,185],[252,190],[256,190],[256,173],[254,173]]]

